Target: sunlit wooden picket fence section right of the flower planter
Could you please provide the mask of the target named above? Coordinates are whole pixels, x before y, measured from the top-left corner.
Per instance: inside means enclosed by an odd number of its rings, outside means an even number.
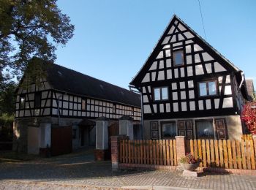
[[[224,167],[255,170],[255,150],[252,139],[187,140],[190,151],[200,159],[200,167]]]

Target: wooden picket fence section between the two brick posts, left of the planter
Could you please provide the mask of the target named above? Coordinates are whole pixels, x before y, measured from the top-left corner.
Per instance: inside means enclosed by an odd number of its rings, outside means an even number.
[[[176,140],[121,140],[119,162],[176,166]]]

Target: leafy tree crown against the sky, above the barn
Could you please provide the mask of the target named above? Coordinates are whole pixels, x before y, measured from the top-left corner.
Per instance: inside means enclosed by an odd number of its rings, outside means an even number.
[[[33,57],[54,61],[73,31],[56,0],[0,0],[0,82],[22,74]]]

